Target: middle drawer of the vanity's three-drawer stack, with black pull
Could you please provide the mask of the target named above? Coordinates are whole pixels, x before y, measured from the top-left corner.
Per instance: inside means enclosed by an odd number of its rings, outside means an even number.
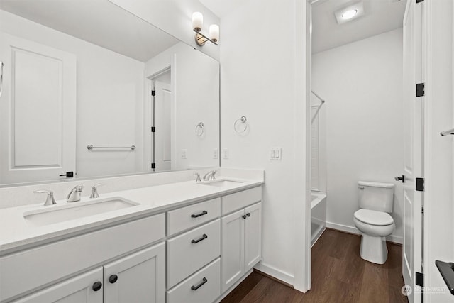
[[[221,220],[167,241],[167,288],[221,255]]]

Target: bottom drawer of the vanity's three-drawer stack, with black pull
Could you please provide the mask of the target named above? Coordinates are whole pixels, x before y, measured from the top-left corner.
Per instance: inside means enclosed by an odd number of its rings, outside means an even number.
[[[221,259],[217,258],[172,290],[167,291],[167,303],[211,303],[220,295]]]

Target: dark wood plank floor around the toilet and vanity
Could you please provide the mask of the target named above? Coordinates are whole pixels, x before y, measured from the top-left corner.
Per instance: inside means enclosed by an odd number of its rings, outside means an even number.
[[[305,294],[251,273],[222,303],[408,302],[401,293],[402,246],[387,243],[383,265],[362,260],[360,236],[326,229],[312,247],[312,288]]]

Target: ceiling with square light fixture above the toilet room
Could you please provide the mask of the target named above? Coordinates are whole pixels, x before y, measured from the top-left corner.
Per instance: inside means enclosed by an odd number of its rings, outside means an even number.
[[[406,0],[362,0],[364,16],[339,25],[334,12],[359,1],[319,0],[312,4],[312,53],[402,28]]]

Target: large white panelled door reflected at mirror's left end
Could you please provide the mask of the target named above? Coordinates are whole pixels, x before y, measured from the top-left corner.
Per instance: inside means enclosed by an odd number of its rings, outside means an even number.
[[[0,184],[76,170],[76,57],[0,33]]]

